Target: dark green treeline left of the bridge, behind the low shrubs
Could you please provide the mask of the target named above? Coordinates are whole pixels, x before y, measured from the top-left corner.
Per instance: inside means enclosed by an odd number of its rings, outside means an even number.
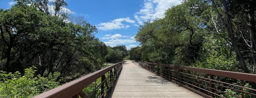
[[[95,38],[96,26],[72,15],[64,0],[15,1],[0,9],[0,71],[24,75],[34,66],[35,75],[59,72],[64,83],[127,55],[125,46],[111,48]]]

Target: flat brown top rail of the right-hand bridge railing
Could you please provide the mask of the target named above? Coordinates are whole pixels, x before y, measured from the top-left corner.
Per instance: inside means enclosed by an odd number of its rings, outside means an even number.
[[[215,69],[185,67],[185,66],[158,64],[158,63],[149,63],[149,62],[141,62],[141,63],[151,64],[151,65],[160,65],[160,66],[164,66],[164,67],[170,67],[170,68],[176,68],[176,69],[182,69],[182,70],[188,70],[188,71],[194,71],[194,72],[201,72],[201,73],[206,73],[206,74],[210,74],[210,75],[224,76],[227,78],[256,82],[256,74],[251,74],[251,73],[222,71],[222,70],[215,70]]]

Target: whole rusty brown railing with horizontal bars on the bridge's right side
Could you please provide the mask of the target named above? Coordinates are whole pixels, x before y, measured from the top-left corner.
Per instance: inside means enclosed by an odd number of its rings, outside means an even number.
[[[206,98],[256,98],[256,74],[141,62],[141,67]]]

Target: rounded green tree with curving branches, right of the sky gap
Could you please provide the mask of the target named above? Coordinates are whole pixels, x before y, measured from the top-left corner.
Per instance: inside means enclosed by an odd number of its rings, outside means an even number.
[[[198,53],[206,34],[205,22],[199,18],[207,7],[207,3],[200,0],[183,1],[169,8],[164,18],[141,25],[135,38],[145,48],[153,48],[147,54],[149,60],[190,65],[199,59]]]

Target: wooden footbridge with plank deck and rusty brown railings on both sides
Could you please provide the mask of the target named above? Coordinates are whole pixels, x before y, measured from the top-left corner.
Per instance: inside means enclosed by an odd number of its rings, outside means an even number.
[[[248,87],[250,83],[256,83],[255,74],[126,60],[34,98],[256,97],[256,90]]]

